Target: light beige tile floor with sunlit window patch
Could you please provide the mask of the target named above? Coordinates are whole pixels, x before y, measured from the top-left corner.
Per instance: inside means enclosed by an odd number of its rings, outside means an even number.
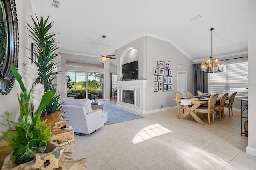
[[[115,100],[102,103],[116,106]],[[87,136],[75,135],[73,159],[85,157],[87,170],[256,169],[256,157],[246,154],[240,112],[234,111],[232,117],[225,112],[221,121],[215,114],[210,125],[204,115],[201,125],[191,116],[178,119],[177,111],[144,114]]]

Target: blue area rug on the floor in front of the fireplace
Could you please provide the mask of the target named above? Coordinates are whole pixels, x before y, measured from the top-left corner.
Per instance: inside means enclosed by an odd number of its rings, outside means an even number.
[[[104,105],[104,110],[108,111],[108,121],[105,123],[105,125],[143,118],[140,115],[136,115],[109,105]]]

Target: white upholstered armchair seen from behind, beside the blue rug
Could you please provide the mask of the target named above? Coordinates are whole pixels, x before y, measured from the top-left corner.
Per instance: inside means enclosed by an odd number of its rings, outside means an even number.
[[[91,134],[108,121],[108,111],[92,111],[89,99],[62,99],[64,119],[74,128],[75,134]]]

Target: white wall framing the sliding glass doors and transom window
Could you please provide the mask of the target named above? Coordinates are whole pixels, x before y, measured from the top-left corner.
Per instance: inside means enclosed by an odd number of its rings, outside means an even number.
[[[92,68],[92,67],[74,67],[74,66],[68,66],[65,64],[66,58],[72,58],[72,59],[80,59],[80,60],[88,60],[88,61],[97,61],[97,62],[103,62],[101,61],[100,57],[87,57],[84,55],[76,55],[76,54],[67,54],[62,53],[61,54],[61,74],[57,75],[57,79],[61,79],[63,83],[58,85],[59,89],[62,91],[66,91],[66,71],[82,71],[82,72],[92,72],[92,73],[105,73],[104,77],[104,95],[105,99],[110,98],[109,91],[112,87],[110,87],[110,63],[109,59],[104,61],[105,68]]]

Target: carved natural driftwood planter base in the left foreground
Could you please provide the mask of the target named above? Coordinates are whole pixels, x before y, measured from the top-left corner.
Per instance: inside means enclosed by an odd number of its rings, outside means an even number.
[[[68,119],[62,118],[63,113],[63,111],[56,111],[41,118],[41,121],[47,119],[46,123],[48,126],[51,125],[53,133],[51,142],[47,145],[48,152],[46,154],[36,154],[32,161],[15,166],[10,164],[11,153],[5,158],[2,170],[86,170],[86,158],[73,160],[74,150],[70,147],[75,144],[74,129],[71,126],[63,128],[68,125]],[[1,141],[1,146],[4,142]]]

